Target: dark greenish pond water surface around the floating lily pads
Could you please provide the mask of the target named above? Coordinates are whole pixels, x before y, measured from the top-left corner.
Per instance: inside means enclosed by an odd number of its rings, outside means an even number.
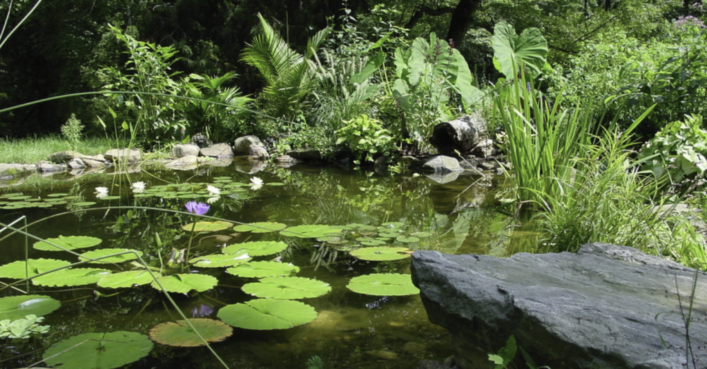
[[[107,247],[139,250],[155,269],[168,269],[165,264],[170,256],[178,264],[180,250],[188,249],[194,259],[243,242],[285,242],[285,250],[253,260],[298,266],[299,271],[293,275],[328,283],[330,291],[320,297],[298,299],[316,310],[317,317],[312,322],[291,329],[234,327],[232,336],[211,344],[230,368],[308,368],[313,356],[322,359],[322,368],[415,368],[422,359],[442,361],[450,355],[448,334],[428,322],[419,295],[365,295],[346,287],[356,276],[409,274],[409,258],[366,261],[349,252],[380,243],[408,250],[506,256],[518,247],[514,228],[510,227],[513,218],[493,210],[497,204],[493,189],[501,185],[503,177],[462,174],[452,182],[440,183],[445,179],[414,173],[392,175],[318,167],[269,167],[248,173],[234,168],[141,172],[129,177],[94,175],[80,180],[52,181],[41,187],[8,188],[0,193],[0,221],[9,223],[26,216],[28,223],[32,223],[54,216],[31,225],[29,232],[43,239],[60,235],[99,238],[100,246],[87,250]],[[254,189],[253,177],[258,177],[264,185]],[[142,194],[134,194],[130,188],[129,182],[136,181],[146,184]],[[218,188],[220,196],[209,194],[207,186]],[[101,197],[95,187],[106,187],[107,196]],[[232,225],[224,230],[195,232],[190,242],[189,227],[194,218],[189,214],[118,208],[145,206],[185,211],[185,203],[192,200],[211,203],[206,215],[228,220],[233,225],[276,222],[288,227],[349,225],[349,228],[343,235],[302,238],[279,232],[239,232]],[[40,204],[49,205],[40,207]],[[104,209],[109,206],[111,209]],[[100,209],[93,210],[97,208]],[[362,228],[364,225],[368,228]],[[390,229],[398,236],[382,238]],[[373,243],[362,245],[366,240]],[[32,247],[35,242],[28,242],[30,259],[77,260],[66,252],[35,250]],[[24,245],[25,237],[21,235],[0,241],[0,265],[24,260]],[[173,250],[175,254],[170,254]],[[176,267],[183,273],[214,276],[218,284],[201,293],[170,293],[187,317],[218,320],[217,312],[225,305],[254,298],[241,288],[255,279],[227,273],[225,267],[197,265]],[[129,262],[81,267],[113,272],[134,268]],[[24,289],[25,285],[17,287]],[[158,324],[182,319],[162,293],[148,285],[117,289],[101,288],[95,282],[54,288],[30,285],[30,293],[59,300],[61,307],[46,315],[42,322],[51,327],[49,333],[23,342],[3,342],[1,368],[38,363],[47,346],[77,334],[115,331],[148,334]],[[9,295],[21,293],[0,291],[0,298]],[[154,344],[147,356],[126,366],[218,367],[221,364],[204,346],[163,344]]]

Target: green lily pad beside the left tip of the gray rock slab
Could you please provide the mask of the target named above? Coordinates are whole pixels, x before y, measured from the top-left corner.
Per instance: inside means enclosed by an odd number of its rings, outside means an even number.
[[[412,284],[410,274],[367,274],[357,276],[346,286],[349,290],[364,295],[403,296],[416,295],[420,290]]]

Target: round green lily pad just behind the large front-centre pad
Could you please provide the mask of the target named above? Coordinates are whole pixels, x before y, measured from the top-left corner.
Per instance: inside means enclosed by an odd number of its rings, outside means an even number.
[[[332,291],[329,283],[303,277],[274,276],[243,285],[243,292],[259,298],[315,298]]]

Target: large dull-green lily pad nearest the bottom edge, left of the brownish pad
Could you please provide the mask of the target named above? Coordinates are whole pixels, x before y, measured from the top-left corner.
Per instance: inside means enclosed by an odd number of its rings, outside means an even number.
[[[152,346],[136,332],[85,333],[53,344],[43,357],[54,368],[111,369],[144,358]]]

